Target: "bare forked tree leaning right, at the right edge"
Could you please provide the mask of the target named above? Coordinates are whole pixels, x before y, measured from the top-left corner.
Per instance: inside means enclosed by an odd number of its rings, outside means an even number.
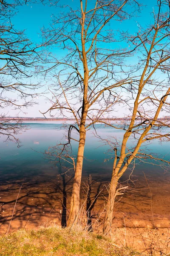
[[[140,27],[132,38],[133,44],[142,43],[138,53],[139,79],[129,85],[127,106],[131,112],[124,120],[125,130],[120,148],[113,143],[114,163],[106,206],[103,233],[111,232],[115,197],[120,190],[120,177],[136,160],[155,160],[162,168],[170,162],[144,150],[153,140],[170,140],[170,1],[159,0],[152,12],[148,28]],[[131,146],[128,146],[129,142]],[[154,152],[153,152],[154,153]]]

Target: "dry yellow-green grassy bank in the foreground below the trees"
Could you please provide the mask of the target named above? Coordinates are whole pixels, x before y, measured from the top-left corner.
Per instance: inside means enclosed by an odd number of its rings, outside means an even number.
[[[19,230],[0,237],[0,256],[138,256],[101,235],[60,227]]]

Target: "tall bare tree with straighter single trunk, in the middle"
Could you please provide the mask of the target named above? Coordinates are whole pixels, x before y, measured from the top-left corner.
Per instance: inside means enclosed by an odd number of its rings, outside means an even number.
[[[63,12],[53,15],[51,27],[42,29],[43,43],[59,47],[62,55],[59,58],[49,54],[45,62],[53,63],[45,67],[45,78],[49,71],[54,78],[50,87],[52,106],[47,112],[52,116],[58,110],[59,116],[72,115],[75,119],[68,128],[68,141],[61,151],[70,145],[71,140],[78,142],[68,225],[76,221],[79,212],[86,131],[96,122],[108,123],[109,113],[114,110],[116,102],[121,102],[121,89],[117,89],[129,84],[133,78],[134,71],[127,65],[127,58],[133,55],[136,46],[128,48],[126,42],[122,47],[125,40],[119,24],[136,15],[136,9],[139,11],[136,0],[96,0],[89,3],[80,0],[76,4],[78,8],[75,3],[73,6],[61,6]],[[78,133],[78,138],[74,137],[73,131]]]

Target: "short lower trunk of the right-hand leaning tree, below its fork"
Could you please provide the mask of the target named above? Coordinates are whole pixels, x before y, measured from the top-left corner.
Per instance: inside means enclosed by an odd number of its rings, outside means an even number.
[[[111,233],[111,226],[112,226],[112,220],[113,220],[113,207],[114,207],[114,202],[116,197],[117,183],[118,183],[118,177],[112,176],[110,189],[109,189],[108,202],[106,206],[105,219],[103,224],[104,235],[108,235],[109,233]]]

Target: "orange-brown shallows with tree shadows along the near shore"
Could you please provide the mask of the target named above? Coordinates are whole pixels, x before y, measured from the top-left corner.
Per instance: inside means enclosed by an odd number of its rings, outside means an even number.
[[[18,228],[35,228],[45,222],[55,221],[61,225],[68,218],[70,207],[72,180],[70,177],[55,176],[44,177],[41,180],[38,177],[32,177],[32,180],[26,180],[23,185],[14,216],[11,222],[11,231]],[[106,182],[92,180],[91,189],[91,219],[92,224],[98,223],[102,226],[104,218],[105,199],[107,198]],[[1,183],[0,186],[0,233],[3,234],[8,228],[14,204],[17,198],[19,186],[17,183],[22,181],[16,180],[15,183]],[[85,191],[87,178],[82,179],[81,201],[85,202]],[[65,186],[63,186],[65,184]],[[150,204],[149,188],[143,184],[130,186],[122,197],[117,198],[115,204],[113,227],[114,228],[169,228],[170,226],[170,199],[169,183],[164,184],[164,191],[167,196],[162,195],[161,182],[154,186],[154,180],[150,181],[152,191],[152,209]],[[67,209],[66,209],[67,208]],[[86,204],[83,209],[83,222],[85,223]]]

